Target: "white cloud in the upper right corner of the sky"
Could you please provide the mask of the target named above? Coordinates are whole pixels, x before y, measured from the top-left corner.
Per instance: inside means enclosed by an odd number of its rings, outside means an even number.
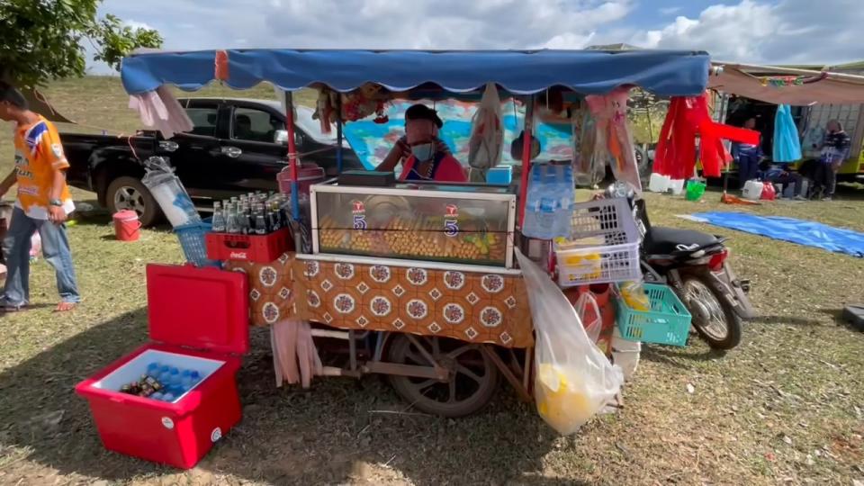
[[[638,31],[646,48],[704,49],[712,58],[756,63],[833,64],[864,58],[858,38],[860,0],[742,0],[677,17],[662,29]]]

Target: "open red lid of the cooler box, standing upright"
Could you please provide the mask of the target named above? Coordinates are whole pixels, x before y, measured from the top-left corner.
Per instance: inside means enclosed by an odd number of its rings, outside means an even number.
[[[149,335],[155,341],[224,354],[249,349],[246,274],[151,264],[147,307]]]

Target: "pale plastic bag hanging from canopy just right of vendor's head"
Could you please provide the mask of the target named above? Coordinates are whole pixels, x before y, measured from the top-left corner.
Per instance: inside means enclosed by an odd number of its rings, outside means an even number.
[[[494,83],[486,85],[480,107],[471,121],[471,141],[468,147],[468,165],[472,175],[475,170],[485,175],[486,171],[498,166],[504,145],[504,126],[501,123],[501,100]],[[486,182],[485,176],[482,181]]]

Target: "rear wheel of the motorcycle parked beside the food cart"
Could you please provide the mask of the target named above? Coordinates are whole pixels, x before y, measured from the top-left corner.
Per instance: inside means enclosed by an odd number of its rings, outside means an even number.
[[[741,318],[721,284],[705,273],[681,275],[681,301],[693,316],[693,327],[712,349],[741,343]]]

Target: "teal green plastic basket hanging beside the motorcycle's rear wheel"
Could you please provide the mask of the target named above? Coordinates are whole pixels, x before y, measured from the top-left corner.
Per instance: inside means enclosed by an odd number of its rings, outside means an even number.
[[[690,334],[687,308],[668,285],[644,284],[651,311],[636,311],[618,298],[617,326],[621,337],[671,346],[686,346]]]

